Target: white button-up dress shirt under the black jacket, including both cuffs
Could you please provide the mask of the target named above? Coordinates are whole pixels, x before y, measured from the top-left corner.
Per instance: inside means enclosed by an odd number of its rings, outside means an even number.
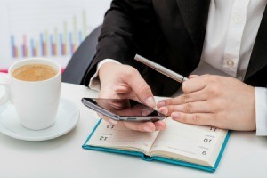
[[[244,79],[267,0],[211,0],[201,61]],[[100,90],[98,70],[89,87]],[[267,135],[267,89],[255,87],[256,134]]]

